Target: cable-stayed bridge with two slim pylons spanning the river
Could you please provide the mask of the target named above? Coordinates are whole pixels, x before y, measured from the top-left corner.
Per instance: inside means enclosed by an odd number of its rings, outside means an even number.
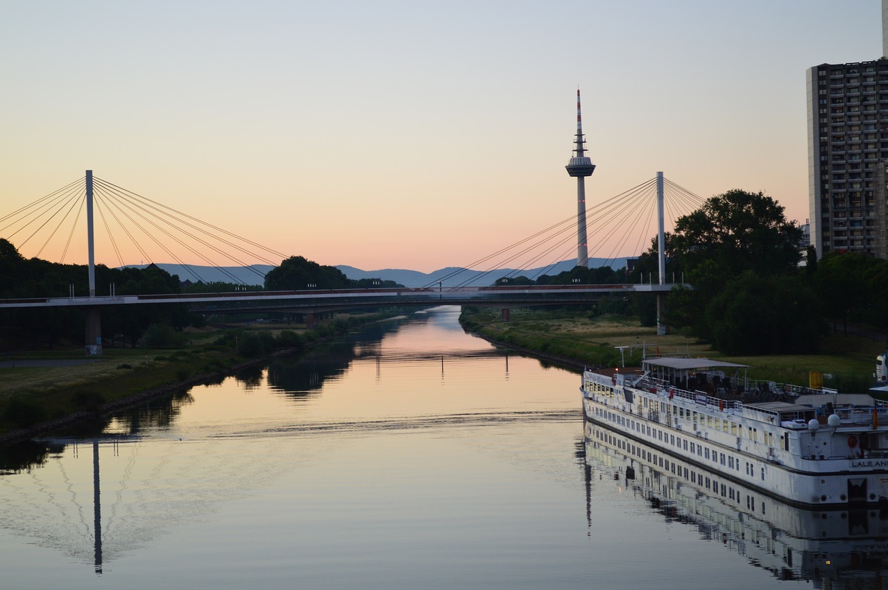
[[[637,185],[615,197],[592,206],[583,223],[588,224],[592,240],[588,244],[589,256],[615,259],[625,252],[638,255],[646,249],[659,224],[660,235],[665,218],[675,219],[690,212],[702,203],[702,199],[686,189],[658,177]],[[192,311],[203,313],[234,313],[244,311],[300,311],[306,314],[326,311],[391,307],[406,305],[472,304],[499,306],[506,311],[511,307],[566,303],[588,303],[602,295],[628,294],[632,292],[663,293],[670,290],[671,282],[662,276],[648,274],[638,284],[620,285],[509,285],[510,277],[522,275],[522,269],[537,270],[528,279],[546,274],[546,269],[565,260],[577,248],[575,225],[577,216],[570,216],[535,232],[506,248],[483,256],[440,278],[437,284],[418,288],[360,288],[324,289],[318,285],[305,285],[305,289],[293,291],[238,290],[226,293],[187,293],[161,295],[116,295],[115,287],[109,286],[107,295],[97,293],[94,277],[96,232],[93,212],[98,212],[99,232],[106,237],[106,248],[114,253],[120,266],[125,266],[124,246],[137,251],[142,260],[155,261],[163,256],[182,264],[192,272],[196,281],[202,281],[197,271],[191,271],[186,259],[200,260],[202,264],[224,268],[228,265],[249,267],[262,263],[276,266],[288,258],[281,252],[266,248],[257,241],[238,236],[216,225],[188,215],[133,193],[120,186],[92,177],[87,170],[83,179],[62,187],[28,206],[0,217],[0,235],[18,248],[30,248],[39,257],[52,251],[52,244],[64,242],[56,250],[58,261],[63,263],[69,256],[70,247],[76,241],[78,221],[85,213],[86,238],[89,251],[90,294],[74,296],[65,294],[39,294],[18,299],[0,300],[0,309],[64,308],[76,307],[87,310],[87,342],[99,338],[99,310],[107,306],[139,305],[156,303],[186,303]],[[659,216],[657,215],[659,211]],[[81,224],[82,225],[82,224]],[[584,245],[586,246],[586,245]],[[152,251],[152,247],[153,250]],[[159,254],[158,254],[159,253]],[[104,253],[106,258],[108,253]],[[461,280],[466,269],[475,271],[472,281],[484,273],[501,268],[513,268],[510,277],[498,279],[496,286],[469,286],[470,280]],[[229,273],[230,274],[230,273]],[[231,275],[233,283],[241,279]],[[475,283],[477,285],[477,282]],[[28,294],[30,295],[30,294]],[[92,318],[92,319],[91,319]],[[92,326],[92,327],[91,327]]]

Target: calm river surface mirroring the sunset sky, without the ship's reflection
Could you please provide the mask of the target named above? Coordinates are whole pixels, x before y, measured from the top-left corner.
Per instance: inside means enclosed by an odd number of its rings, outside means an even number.
[[[5,450],[0,586],[791,588],[812,583],[778,577],[860,562],[856,543],[870,565],[852,587],[879,587],[878,515],[866,539],[805,539],[753,531],[680,478],[626,480],[623,443],[584,430],[577,375],[496,352],[457,315]]]

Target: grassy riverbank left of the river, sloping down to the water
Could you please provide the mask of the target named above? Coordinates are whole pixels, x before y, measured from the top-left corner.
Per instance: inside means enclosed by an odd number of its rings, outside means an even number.
[[[341,315],[312,329],[274,324],[189,329],[174,347],[106,349],[101,358],[78,365],[63,363],[83,360],[79,347],[8,354],[0,358],[0,436],[218,378],[275,352],[305,350],[337,331],[393,315]],[[42,366],[28,366],[35,361]]]

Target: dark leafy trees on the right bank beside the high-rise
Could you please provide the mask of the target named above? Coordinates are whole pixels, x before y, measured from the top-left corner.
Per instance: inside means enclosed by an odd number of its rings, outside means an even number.
[[[666,305],[668,326],[729,355],[812,353],[830,330],[888,331],[888,260],[801,248],[803,231],[764,193],[734,189],[681,216],[664,236],[666,276],[679,285]],[[562,272],[535,284],[638,282],[658,272],[657,238],[631,271],[607,267]],[[575,279],[577,279],[575,281]],[[683,279],[683,281],[682,281]],[[508,284],[520,284],[509,279]],[[655,323],[654,298],[634,294],[599,311]]]

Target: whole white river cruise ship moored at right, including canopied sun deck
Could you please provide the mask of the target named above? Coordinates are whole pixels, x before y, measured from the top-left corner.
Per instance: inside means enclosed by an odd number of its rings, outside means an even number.
[[[583,371],[583,414],[605,429],[797,507],[888,504],[888,407],[746,378],[710,358]]]

